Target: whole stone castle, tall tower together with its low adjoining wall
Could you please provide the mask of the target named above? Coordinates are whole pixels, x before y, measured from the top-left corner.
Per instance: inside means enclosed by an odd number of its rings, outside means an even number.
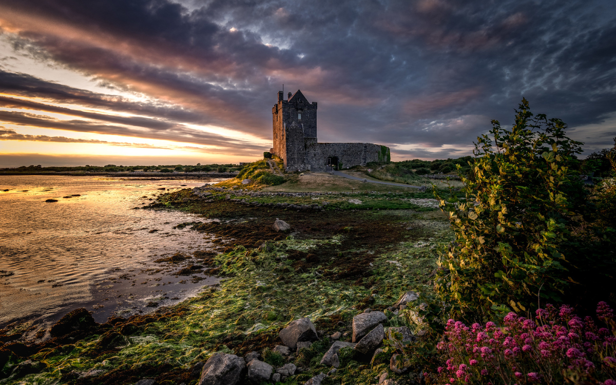
[[[309,103],[301,91],[272,108],[274,153],[285,162],[287,171],[328,171],[365,166],[368,162],[389,161],[389,147],[371,143],[318,143],[317,102]]]

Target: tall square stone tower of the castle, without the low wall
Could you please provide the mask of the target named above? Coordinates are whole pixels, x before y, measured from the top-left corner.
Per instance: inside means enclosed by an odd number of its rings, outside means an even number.
[[[275,155],[285,162],[285,168],[305,168],[306,148],[317,144],[317,102],[309,103],[299,89],[293,95],[289,92],[287,100],[278,91],[272,125]]]

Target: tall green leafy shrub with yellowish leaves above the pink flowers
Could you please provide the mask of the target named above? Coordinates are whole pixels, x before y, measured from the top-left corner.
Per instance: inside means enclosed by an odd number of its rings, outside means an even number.
[[[460,172],[466,201],[434,191],[455,232],[435,288],[461,318],[524,311],[537,296],[560,301],[570,281],[564,250],[574,213],[565,191],[579,187],[569,163],[582,143],[565,136],[561,120],[533,117],[525,99],[516,113],[511,131],[493,120],[493,138],[477,138],[474,180]]]

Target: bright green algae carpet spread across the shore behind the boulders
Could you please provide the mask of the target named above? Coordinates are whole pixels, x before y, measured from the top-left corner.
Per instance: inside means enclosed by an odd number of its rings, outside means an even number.
[[[289,197],[283,198],[289,201]],[[112,375],[148,368],[189,371],[195,362],[206,360],[214,352],[243,355],[272,349],[281,343],[278,331],[301,317],[309,317],[327,334],[349,331],[352,317],[365,307],[386,309],[407,290],[431,291],[436,249],[452,240],[448,223],[433,213],[405,209],[376,215],[387,216],[411,230],[402,241],[387,248],[349,242],[355,237],[354,226],[347,226],[351,228],[348,232],[318,237],[286,237],[261,251],[236,246],[211,257],[212,265],[225,277],[219,285],[177,306],[156,310],[148,322],[130,327],[130,323],[118,323],[104,333],[39,351],[31,359],[46,363],[46,372],[0,383],[74,382],[70,373],[94,374],[86,377],[89,383],[103,383]],[[387,233],[389,229],[381,231]],[[311,262],[314,254],[320,258]],[[346,261],[349,255],[363,258],[369,266],[367,272],[345,278],[345,266],[339,261]],[[338,326],[338,321],[345,326]],[[391,317],[388,325],[408,322],[404,317]],[[327,343],[323,338],[309,352],[298,352],[296,363],[308,370],[286,384],[302,383],[320,371],[329,371],[318,364]],[[344,367],[328,381],[369,383],[388,367],[387,363],[366,365],[347,358]],[[187,384],[196,379],[191,381]]]

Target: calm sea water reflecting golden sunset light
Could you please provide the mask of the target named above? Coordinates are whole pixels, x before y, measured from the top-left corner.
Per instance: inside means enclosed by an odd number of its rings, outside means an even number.
[[[177,267],[153,262],[211,248],[203,233],[172,229],[205,219],[134,209],[163,193],[160,188],[215,181],[0,176],[0,328],[48,324],[78,307],[105,322],[153,310],[149,302],[177,303],[215,283],[204,274],[200,282],[176,278]],[[49,198],[58,201],[46,203]]]

